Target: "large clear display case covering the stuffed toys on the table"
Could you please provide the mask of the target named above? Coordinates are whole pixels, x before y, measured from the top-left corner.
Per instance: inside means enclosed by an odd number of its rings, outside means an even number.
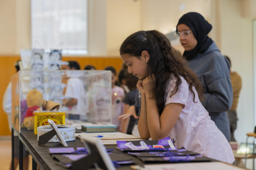
[[[12,126],[18,132],[24,127],[28,108],[40,103],[37,99],[33,99],[33,102],[26,100],[28,92],[32,90],[40,92],[47,105],[58,105],[52,109],[66,113],[66,120],[111,123],[111,71],[24,70],[12,76],[11,83]],[[47,109],[43,105],[38,107]]]

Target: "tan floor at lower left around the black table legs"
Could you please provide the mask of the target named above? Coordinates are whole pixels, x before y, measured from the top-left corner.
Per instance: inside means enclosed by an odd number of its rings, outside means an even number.
[[[32,156],[29,155],[28,169],[32,169]],[[8,170],[12,160],[12,142],[11,137],[0,138],[0,169]],[[16,168],[19,169],[19,166]]]

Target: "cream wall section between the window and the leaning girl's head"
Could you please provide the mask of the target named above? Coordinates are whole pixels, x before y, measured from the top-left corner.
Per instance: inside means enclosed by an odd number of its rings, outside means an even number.
[[[141,1],[107,1],[107,49],[109,56],[119,56],[119,48],[132,33],[141,30]]]

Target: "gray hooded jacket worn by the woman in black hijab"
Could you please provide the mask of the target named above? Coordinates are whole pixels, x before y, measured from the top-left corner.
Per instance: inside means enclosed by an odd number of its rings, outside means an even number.
[[[230,65],[226,57],[221,55],[215,42],[203,54],[188,60],[189,67],[201,81],[205,101],[203,107],[209,112],[218,129],[230,142],[230,129],[226,111],[233,102],[233,88],[230,79]]]

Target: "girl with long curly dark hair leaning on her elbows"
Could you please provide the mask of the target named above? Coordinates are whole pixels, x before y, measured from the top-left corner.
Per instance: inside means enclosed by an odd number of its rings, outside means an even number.
[[[228,140],[203,107],[202,84],[177,57],[171,42],[159,31],[138,31],[120,47],[129,73],[139,78],[141,93],[138,123],[142,139],[160,140],[166,136],[185,147],[216,160],[233,163]]]

